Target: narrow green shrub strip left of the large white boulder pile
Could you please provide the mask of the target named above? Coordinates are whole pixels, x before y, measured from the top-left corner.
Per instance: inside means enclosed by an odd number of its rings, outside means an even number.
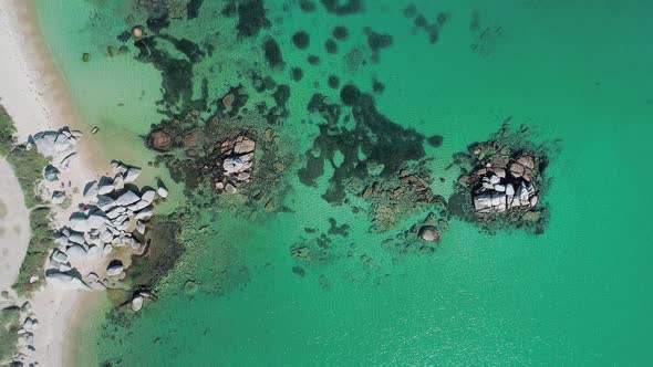
[[[30,277],[35,274],[41,275],[50,250],[55,248],[50,228],[49,208],[34,208],[30,213],[30,227],[32,230],[30,245],[20,266],[18,280],[13,284],[13,289],[19,295],[30,293],[43,284],[43,276],[39,276],[39,281],[34,283],[30,283]]]

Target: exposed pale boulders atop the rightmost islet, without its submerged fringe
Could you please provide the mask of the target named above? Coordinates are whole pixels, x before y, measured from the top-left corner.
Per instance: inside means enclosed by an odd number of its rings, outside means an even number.
[[[516,158],[495,156],[471,175],[474,209],[477,216],[509,210],[527,210],[538,205],[533,178],[536,161],[530,153]]]

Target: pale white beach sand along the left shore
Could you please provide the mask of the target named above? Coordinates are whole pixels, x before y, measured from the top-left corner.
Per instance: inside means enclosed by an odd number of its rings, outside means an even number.
[[[25,141],[29,135],[41,130],[79,127],[65,83],[40,34],[32,1],[0,0],[0,103],[14,120],[19,141]],[[79,158],[73,167],[60,176],[65,182],[66,195],[73,197],[73,203],[82,200],[81,193],[73,193],[72,190],[83,188],[85,182],[100,177],[107,164],[97,153],[90,154],[92,149],[84,140],[87,139],[82,138],[82,143],[77,145]],[[0,166],[2,178],[7,177],[6,171],[7,167]],[[68,188],[69,180],[72,184],[71,189]],[[10,266],[6,269],[2,265],[0,269],[2,287],[15,279],[17,268],[20,268],[19,259],[23,256],[29,242],[24,233],[24,229],[29,228],[24,203],[20,208],[22,195],[14,192],[15,185],[13,186],[10,198],[3,200],[17,212],[15,226],[21,228],[21,235],[13,240],[10,258],[7,259]],[[64,223],[69,214],[70,209],[55,212],[55,226]],[[41,366],[64,365],[64,352],[69,349],[66,342],[70,342],[69,327],[75,302],[80,298],[77,292],[80,291],[59,291],[51,286],[37,292],[31,303],[40,327],[34,331],[35,352],[25,353],[28,357],[24,361],[35,360]]]

